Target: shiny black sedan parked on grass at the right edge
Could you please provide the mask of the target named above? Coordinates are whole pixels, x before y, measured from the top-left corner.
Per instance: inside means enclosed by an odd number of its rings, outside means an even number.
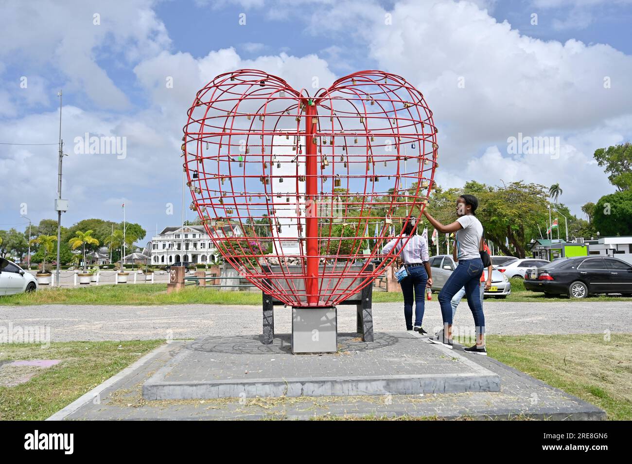
[[[526,290],[545,296],[586,298],[597,293],[632,296],[632,264],[611,257],[581,256],[557,260],[525,274]]]

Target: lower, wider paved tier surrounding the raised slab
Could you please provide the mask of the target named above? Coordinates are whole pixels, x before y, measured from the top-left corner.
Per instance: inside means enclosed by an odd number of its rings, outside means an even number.
[[[388,340],[400,338],[401,334],[379,333],[382,350],[388,350]],[[274,345],[283,354],[288,336],[277,336]],[[231,351],[243,351],[244,346],[260,348],[255,343],[235,343],[231,338],[223,338],[214,344],[200,346],[216,350],[219,355],[234,355]],[[208,341],[208,338],[206,338]],[[427,344],[423,339],[411,340]],[[380,417],[426,417],[436,419],[506,419],[537,418],[552,420],[603,420],[605,412],[597,406],[586,403],[563,391],[552,388],[530,375],[512,369],[490,357],[480,357],[463,353],[456,346],[454,353],[489,370],[500,378],[500,391],[478,391],[466,393],[420,393],[420,394],[379,394],[357,396],[281,396],[263,398],[242,394],[235,398],[191,399],[191,400],[147,400],[143,398],[143,384],[152,379],[161,369],[169,365],[183,351],[188,350],[188,341],[173,341],[152,351],[127,369],[89,391],[71,405],[52,415],[50,420],[214,420],[214,419],[298,419],[343,417],[343,418],[380,418]],[[444,354],[442,348],[435,345],[424,348]],[[228,351],[222,353],[221,351]],[[343,359],[344,344],[338,355]],[[360,350],[358,350],[360,351]],[[370,349],[365,350],[368,354]],[[264,356],[269,356],[263,352]],[[218,355],[218,357],[219,357]],[[295,355],[300,357],[322,358],[317,355]],[[451,356],[449,358],[452,358]],[[458,358],[458,357],[457,357]],[[277,355],[267,362],[274,363]],[[414,362],[413,359],[409,359]],[[401,360],[394,360],[401,365]],[[457,362],[458,363],[458,362]],[[372,372],[382,372],[384,365],[376,366]],[[245,370],[231,369],[224,365],[226,372],[233,372],[235,378],[243,379]],[[272,367],[270,367],[272,369]],[[276,368],[275,368],[276,369]],[[211,372],[213,369],[211,369]],[[250,372],[250,371],[249,371]],[[321,372],[321,371],[317,371]],[[454,372],[454,371],[453,371]],[[209,374],[200,372],[200,378]],[[250,374],[247,374],[250,375]],[[260,377],[263,373],[257,374]]]

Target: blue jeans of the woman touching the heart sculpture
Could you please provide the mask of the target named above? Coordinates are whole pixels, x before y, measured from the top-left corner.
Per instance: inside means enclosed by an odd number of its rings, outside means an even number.
[[[460,259],[458,266],[452,275],[447,279],[439,293],[439,304],[441,305],[441,315],[443,324],[452,324],[453,313],[451,300],[454,295],[465,287],[465,295],[468,298],[468,306],[474,316],[477,336],[485,333],[485,316],[483,306],[480,302],[480,274],[483,272],[483,262],[477,259]]]

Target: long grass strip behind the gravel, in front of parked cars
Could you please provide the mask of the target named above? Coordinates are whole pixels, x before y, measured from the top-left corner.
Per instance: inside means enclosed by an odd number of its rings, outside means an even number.
[[[80,288],[46,288],[34,293],[0,296],[0,305],[179,305],[206,303],[216,305],[261,305],[259,291],[219,291],[188,286],[178,293],[167,295],[167,284],[99,285]],[[437,293],[432,294],[437,300]],[[403,302],[399,291],[374,291],[374,303]],[[485,302],[568,302],[566,296],[545,298],[544,293],[525,290],[522,282],[512,282],[512,293],[505,300],[486,298]],[[583,300],[580,300],[583,301]],[[623,296],[591,296],[586,301],[628,301]]]

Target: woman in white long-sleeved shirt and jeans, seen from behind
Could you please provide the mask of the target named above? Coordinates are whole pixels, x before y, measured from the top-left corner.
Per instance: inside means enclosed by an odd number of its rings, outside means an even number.
[[[406,243],[399,255],[408,270],[408,277],[399,283],[401,293],[404,294],[404,320],[406,330],[414,330],[423,335],[427,333],[422,327],[425,290],[426,286],[432,285],[432,273],[428,262],[428,243],[422,236],[416,235],[416,224],[413,221],[414,218],[408,218],[401,230],[401,236],[389,241],[382,248],[382,254],[387,255],[393,247],[399,251]],[[408,242],[406,242],[407,237],[410,237]],[[415,326],[413,326],[413,300],[415,301]]]

